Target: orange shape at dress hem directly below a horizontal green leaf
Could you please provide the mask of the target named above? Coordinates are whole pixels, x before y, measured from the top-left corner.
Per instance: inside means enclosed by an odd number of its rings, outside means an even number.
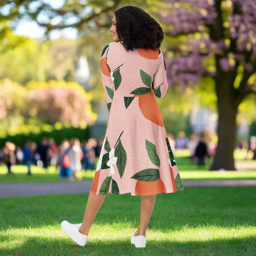
[[[154,195],[156,193],[166,193],[166,188],[161,179],[155,182],[137,181],[135,195]]]

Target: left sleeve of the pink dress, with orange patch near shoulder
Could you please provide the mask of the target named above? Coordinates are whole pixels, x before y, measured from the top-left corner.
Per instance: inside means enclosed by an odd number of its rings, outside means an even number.
[[[106,45],[101,54],[100,60],[100,71],[101,71],[101,82],[105,93],[108,110],[110,111],[111,102],[114,96],[114,84],[110,75],[110,67],[108,65],[108,53],[110,46]]]

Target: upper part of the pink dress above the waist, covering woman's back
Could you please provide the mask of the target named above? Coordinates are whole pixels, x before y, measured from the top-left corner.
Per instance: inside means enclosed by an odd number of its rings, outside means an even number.
[[[110,98],[112,93],[114,98],[145,95],[161,85],[158,90],[161,94],[156,96],[163,97],[168,85],[165,70],[157,73],[159,64],[164,64],[164,59],[158,49],[127,51],[121,42],[110,43],[104,48],[101,59],[101,72],[109,77],[109,81],[106,80],[108,95]]]

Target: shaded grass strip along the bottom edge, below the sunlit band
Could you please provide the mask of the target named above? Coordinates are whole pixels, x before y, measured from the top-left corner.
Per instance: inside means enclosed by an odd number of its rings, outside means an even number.
[[[9,236],[2,237],[11,242]],[[189,239],[188,239],[189,240]],[[99,239],[88,239],[85,247],[75,244],[69,238],[42,238],[40,236],[28,236],[24,242],[18,245],[12,244],[11,248],[1,248],[0,255],[146,255],[146,256],[167,256],[167,255],[255,255],[255,237],[212,239],[210,241],[186,241],[177,242],[162,239],[154,241],[147,240],[146,248],[135,248],[130,244],[130,236],[127,239],[111,239],[108,241]]]

